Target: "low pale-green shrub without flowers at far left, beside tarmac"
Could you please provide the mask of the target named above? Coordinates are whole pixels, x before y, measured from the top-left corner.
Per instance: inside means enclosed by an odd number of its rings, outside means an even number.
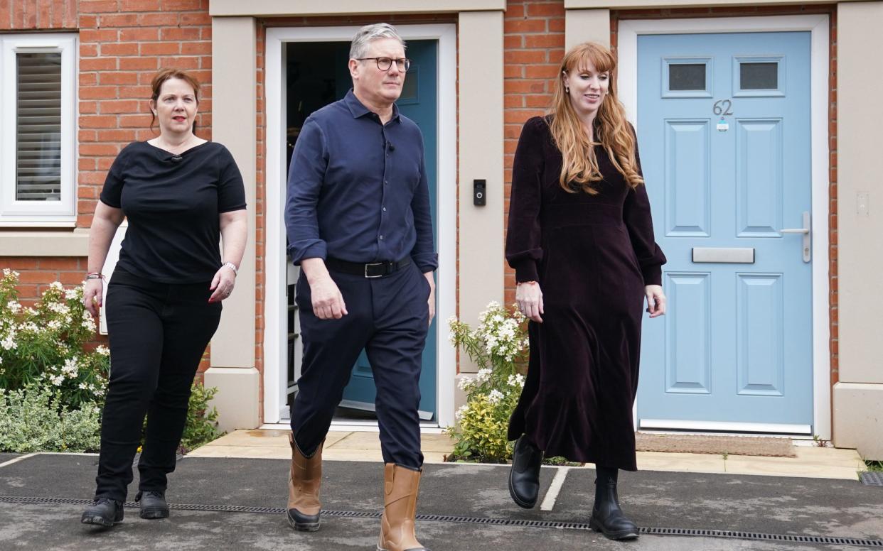
[[[97,451],[100,413],[95,402],[68,408],[53,388],[0,390],[0,451]]]

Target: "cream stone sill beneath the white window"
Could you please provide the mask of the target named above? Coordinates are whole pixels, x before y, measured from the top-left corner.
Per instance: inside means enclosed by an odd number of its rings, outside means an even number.
[[[0,257],[87,257],[89,230],[69,231],[72,224],[25,230],[0,223]]]

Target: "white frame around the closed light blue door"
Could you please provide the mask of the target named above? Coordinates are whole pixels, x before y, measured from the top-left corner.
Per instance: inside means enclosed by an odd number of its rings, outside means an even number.
[[[638,127],[638,34],[774,33],[811,34],[811,190],[812,190],[812,394],[813,432],[831,439],[830,306],[828,303],[828,16],[786,15],[708,19],[623,19],[619,22],[619,94]],[[638,405],[635,405],[638,423]],[[707,423],[706,423],[707,424]],[[777,432],[777,426],[750,430]],[[744,427],[720,427],[742,432]],[[720,429],[718,428],[718,429]]]

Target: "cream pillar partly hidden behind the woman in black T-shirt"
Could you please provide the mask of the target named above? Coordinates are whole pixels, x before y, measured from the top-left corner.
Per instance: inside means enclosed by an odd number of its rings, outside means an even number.
[[[212,18],[212,139],[230,150],[245,181],[248,243],[236,288],[223,302],[221,325],[212,339],[208,386],[223,430],[255,428],[260,374],[254,368],[255,175],[257,170],[257,33],[253,18]]]

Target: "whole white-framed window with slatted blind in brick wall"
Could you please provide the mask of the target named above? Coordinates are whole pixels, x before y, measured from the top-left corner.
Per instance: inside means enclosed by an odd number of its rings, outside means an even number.
[[[0,227],[76,221],[76,34],[0,34]]]

